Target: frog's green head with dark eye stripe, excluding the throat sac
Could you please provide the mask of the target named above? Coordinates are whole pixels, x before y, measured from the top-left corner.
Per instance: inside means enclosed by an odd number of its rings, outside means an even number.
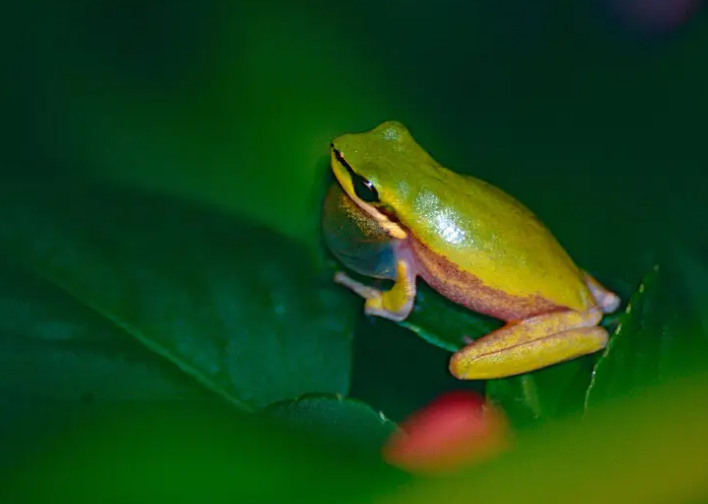
[[[399,214],[420,163],[432,161],[408,129],[387,121],[335,138],[330,151],[332,171],[347,195],[392,237],[405,238]]]

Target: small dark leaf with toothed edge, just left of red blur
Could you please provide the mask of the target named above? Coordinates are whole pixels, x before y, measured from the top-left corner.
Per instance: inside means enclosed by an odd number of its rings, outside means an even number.
[[[272,404],[265,414],[298,432],[363,453],[378,454],[397,428],[366,403],[342,396],[307,395]]]

